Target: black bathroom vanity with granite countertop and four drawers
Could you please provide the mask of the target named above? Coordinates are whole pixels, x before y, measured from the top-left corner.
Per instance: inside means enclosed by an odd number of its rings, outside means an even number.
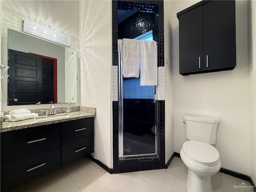
[[[93,113],[4,122],[1,129],[1,191],[15,188],[94,152]]]

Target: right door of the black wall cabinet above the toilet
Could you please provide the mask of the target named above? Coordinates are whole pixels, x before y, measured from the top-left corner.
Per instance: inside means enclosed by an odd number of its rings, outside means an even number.
[[[210,1],[203,5],[204,70],[236,66],[236,18],[234,1]]]

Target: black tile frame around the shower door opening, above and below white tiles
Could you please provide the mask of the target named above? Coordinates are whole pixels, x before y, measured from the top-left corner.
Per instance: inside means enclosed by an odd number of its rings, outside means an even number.
[[[132,10],[154,13],[153,39],[158,42],[158,66],[164,66],[164,2],[162,0],[112,0],[112,65],[118,65],[118,22],[117,10]],[[118,158],[118,101],[113,107],[113,172],[131,172],[165,168],[164,100],[157,102],[158,156],[136,160]]]

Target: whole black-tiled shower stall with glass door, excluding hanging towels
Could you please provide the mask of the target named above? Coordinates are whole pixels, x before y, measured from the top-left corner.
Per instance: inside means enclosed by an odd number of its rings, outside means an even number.
[[[163,80],[163,13],[162,0],[112,0],[114,173],[153,170],[166,166],[165,101],[164,92],[161,92],[164,81],[159,81],[158,86],[140,86],[139,78],[123,78],[122,62],[119,60],[120,55],[118,56],[123,38],[138,40],[150,35],[158,43],[158,78]]]

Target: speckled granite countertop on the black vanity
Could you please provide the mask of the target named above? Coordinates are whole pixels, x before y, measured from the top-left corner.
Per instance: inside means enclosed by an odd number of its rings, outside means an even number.
[[[27,120],[17,121],[17,122],[2,122],[2,128],[0,132],[19,130],[19,129],[29,128],[29,127],[36,127],[36,126],[66,122],[70,120],[77,120],[77,119],[83,119],[83,118],[89,118],[89,117],[95,117],[95,116],[96,116],[96,110],[95,111],[91,110],[91,111],[76,111],[76,112],[71,112],[69,114],[62,113],[62,114],[57,114],[52,116],[38,116],[37,118],[32,118],[32,119],[27,119]],[[51,119],[53,117],[57,117],[57,118]]]

